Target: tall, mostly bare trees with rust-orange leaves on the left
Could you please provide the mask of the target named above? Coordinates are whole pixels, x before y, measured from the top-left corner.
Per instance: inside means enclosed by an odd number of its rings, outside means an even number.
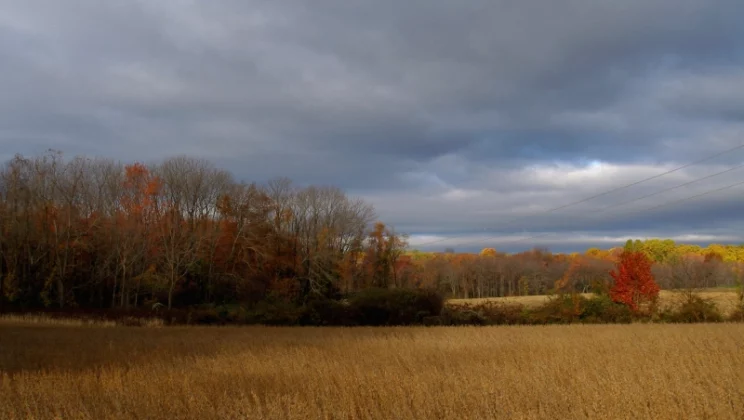
[[[0,171],[0,307],[168,308],[386,287],[404,238],[335,187],[237,182],[202,159],[60,152]]]

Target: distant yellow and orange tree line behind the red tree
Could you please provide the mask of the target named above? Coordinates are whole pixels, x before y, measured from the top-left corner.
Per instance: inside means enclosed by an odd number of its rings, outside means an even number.
[[[436,287],[455,298],[598,293],[612,286],[610,272],[628,249],[648,257],[654,279],[663,289],[741,286],[744,246],[700,247],[669,239],[635,240],[624,247],[571,254],[540,248],[514,254],[493,248],[477,254],[414,251],[402,256],[398,266],[411,283]]]

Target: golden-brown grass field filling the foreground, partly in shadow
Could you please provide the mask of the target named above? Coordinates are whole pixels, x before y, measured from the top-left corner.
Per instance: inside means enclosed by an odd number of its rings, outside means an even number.
[[[744,324],[0,325],[0,418],[741,419]]]

